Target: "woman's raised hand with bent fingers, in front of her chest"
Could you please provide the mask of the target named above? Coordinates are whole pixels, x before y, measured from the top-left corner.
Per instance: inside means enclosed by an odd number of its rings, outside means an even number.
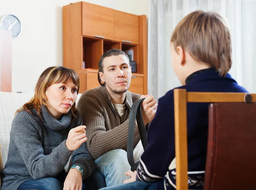
[[[84,125],[75,127],[70,130],[67,136],[66,147],[70,151],[78,149],[81,144],[87,141],[86,127]]]

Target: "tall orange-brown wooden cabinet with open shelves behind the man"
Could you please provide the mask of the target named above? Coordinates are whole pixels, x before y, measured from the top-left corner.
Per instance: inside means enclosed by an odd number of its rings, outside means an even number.
[[[133,50],[129,91],[147,94],[147,17],[85,2],[63,6],[63,65],[79,74],[79,93],[99,86],[99,59],[115,48]]]

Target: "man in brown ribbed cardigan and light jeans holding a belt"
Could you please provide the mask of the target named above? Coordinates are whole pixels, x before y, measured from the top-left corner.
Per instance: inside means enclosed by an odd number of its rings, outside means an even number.
[[[100,87],[81,95],[77,108],[87,127],[88,150],[96,170],[105,176],[107,187],[122,184],[131,167],[127,160],[129,114],[134,101],[145,98],[142,104],[144,124],[154,118],[157,101],[152,95],[138,95],[128,91],[131,83],[128,56],[119,49],[111,49],[99,60]],[[134,147],[140,141],[134,130]]]

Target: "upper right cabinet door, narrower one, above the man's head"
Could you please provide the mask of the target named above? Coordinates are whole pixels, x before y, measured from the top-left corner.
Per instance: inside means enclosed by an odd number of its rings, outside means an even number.
[[[139,16],[114,11],[114,37],[117,41],[139,43]]]

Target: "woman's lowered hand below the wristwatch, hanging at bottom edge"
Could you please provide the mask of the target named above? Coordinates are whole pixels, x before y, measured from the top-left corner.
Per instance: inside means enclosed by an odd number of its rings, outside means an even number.
[[[76,169],[70,169],[64,182],[63,190],[81,190],[82,189],[82,175]]]

